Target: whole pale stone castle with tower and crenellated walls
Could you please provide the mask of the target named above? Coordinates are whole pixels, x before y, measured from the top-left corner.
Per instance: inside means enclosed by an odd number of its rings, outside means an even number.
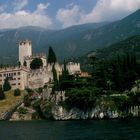
[[[37,70],[30,69],[30,63],[34,58],[40,58],[43,62],[43,67]],[[52,67],[53,64],[48,64],[46,55],[32,55],[32,42],[24,40],[19,42],[19,62],[20,66],[7,67],[0,69],[0,85],[3,86],[4,80],[9,79],[12,89],[39,88],[53,80]],[[26,63],[26,66],[25,66]],[[55,63],[57,75],[62,73],[63,65]],[[81,73],[80,64],[69,62],[67,64],[69,74]]]

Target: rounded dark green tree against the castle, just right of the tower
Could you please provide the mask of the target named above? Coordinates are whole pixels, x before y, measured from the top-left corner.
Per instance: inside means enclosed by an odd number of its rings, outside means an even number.
[[[34,58],[30,64],[31,69],[39,69],[42,66],[43,66],[43,62],[42,59],[40,58]]]

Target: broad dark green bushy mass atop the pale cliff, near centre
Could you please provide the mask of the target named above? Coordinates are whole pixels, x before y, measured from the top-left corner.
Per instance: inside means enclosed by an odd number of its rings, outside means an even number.
[[[69,107],[77,107],[82,110],[88,110],[95,106],[96,99],[101,95],[98,88],[81,88],[66,91],[65,103]]]

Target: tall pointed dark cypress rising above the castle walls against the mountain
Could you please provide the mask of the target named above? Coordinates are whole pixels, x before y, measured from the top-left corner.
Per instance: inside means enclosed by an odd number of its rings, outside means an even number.
[[[49,47],[49,52],[48,52],[48,64],[52,64],[52,63],[55,63],[57,60],[56,60],[56,55],[52,49],[52,47],[50,46]]]

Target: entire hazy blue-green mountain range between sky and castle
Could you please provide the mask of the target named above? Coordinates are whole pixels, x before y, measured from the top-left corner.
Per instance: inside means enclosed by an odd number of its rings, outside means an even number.
[[[32,40],[34,52],[46,53],[51,45],[58,58],[63,59],[82,56],[137,34],[140,34],[140,10],[113,23],[84,24],[57,31],[40,27],[1,30],[0,62],[17,58],[19,40]]]

